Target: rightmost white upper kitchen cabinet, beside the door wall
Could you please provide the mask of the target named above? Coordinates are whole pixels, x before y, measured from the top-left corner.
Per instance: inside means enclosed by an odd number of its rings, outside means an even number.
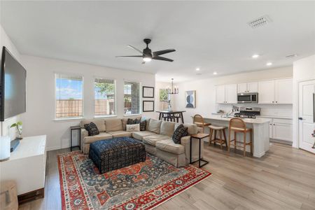
[[[293,80],[274,80],[274,102],[276,104],[293,104]]]

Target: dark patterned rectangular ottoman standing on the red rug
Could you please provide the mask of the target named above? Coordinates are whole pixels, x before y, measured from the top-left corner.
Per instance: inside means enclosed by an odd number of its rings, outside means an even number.
[[[146,150],[144,144],[136,139],[119,137],[90,144],[89,158],[104,174],[146,161]]]

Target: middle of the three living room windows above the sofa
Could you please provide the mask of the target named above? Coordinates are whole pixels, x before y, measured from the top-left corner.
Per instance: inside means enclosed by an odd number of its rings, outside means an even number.
[[[94,116],[116,115],[115,80],[94,80]]]

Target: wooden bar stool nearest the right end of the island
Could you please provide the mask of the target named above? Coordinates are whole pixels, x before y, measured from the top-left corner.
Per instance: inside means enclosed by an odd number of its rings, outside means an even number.
[[[234,139],[231,140],[231,132],[234,132]],[[250,141],[246,142],[246,134],[249,132]],[[243,133],[243,141],[237,141],[237,133]],[[251,146],[251,154],[253,154],[253,130],[251,128],[246,128],[244,120],[239,118],[232,118],[229,124],[229,145],[228,152],[230,152],[231,142],[234,141],[234,148],[237,149],[237,143],[243,144],[243,146],[238,146],[243,148],[243,155],[246,156],[246,146]]]

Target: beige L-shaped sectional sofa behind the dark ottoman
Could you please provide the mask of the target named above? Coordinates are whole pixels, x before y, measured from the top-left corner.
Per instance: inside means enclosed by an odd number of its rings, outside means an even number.
[[[139,119],[140,118],[141,117],[139,117]],[[175,167],[183,167],[187,165],[190,160],[190,136],[182,137],[181,144],[175,144],[172,140],[174,130],[176,130],[180,124],[154,119],[148,119],[146,121],[145,131],[127,132],[125,131],[127,118],[82,120],[80,122],[81,150],[85,154],[89,153],[90,144],[94,141],[116,137],[133,137],[134,139],[144,142],[148,153],[171,163]],[[99,129],[98,135],[88,136],[87,130],[84,129],[84,125],[90,122],[97,125],[97,128]],[[184,124],[184,126],[188,127],[189,135],[197,134],[198,131],[196,125]],[[199,141],[193,141],[192,143],[192,159],[197,160],[199,155]]]

